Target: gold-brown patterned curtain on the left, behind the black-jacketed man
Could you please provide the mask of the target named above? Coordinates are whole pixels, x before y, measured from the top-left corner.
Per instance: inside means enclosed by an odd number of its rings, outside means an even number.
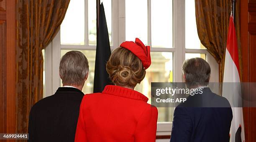
[[[17,0],[17,132],[26,133],[31,107],[43,98],[42,49],[60,29],[70,0]]]

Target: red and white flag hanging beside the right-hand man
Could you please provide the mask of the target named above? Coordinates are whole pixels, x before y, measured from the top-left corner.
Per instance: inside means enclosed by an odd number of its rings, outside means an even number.
[[[233,119],[230,128],[230,142],[245,142],[243,125],[243,108],[241,107],[241,86],[239,76],[238,46],[236,28],[233,16],[230,15],[228,27],[228,40],[225,54],[223,96],[228,99],[232,107]],[[225,87],[225,82],[235,82],[230,87]],[[237,82],[237,83],[236,83]],[[239,107],[238,107],[239,106]]]

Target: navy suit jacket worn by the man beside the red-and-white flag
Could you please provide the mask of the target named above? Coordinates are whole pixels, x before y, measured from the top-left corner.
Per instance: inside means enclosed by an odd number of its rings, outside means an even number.
[[[229,142],[232,118],[228,100],[204,88],[175,108],[170,142]]]

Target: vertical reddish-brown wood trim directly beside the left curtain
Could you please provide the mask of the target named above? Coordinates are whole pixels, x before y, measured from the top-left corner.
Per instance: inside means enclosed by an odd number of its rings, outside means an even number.
[[[16,0],[6,2],[6,132],[16,132]],[[7,140],[12,142],[12,140]]]

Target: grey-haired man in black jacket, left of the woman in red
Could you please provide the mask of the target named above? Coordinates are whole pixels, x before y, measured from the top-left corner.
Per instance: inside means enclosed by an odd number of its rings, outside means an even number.
[[[69,51],[61,58],[59,75],[63,87],[31,108],[28,142],[74,142],[88,72],[88,60],[82,52]]]

